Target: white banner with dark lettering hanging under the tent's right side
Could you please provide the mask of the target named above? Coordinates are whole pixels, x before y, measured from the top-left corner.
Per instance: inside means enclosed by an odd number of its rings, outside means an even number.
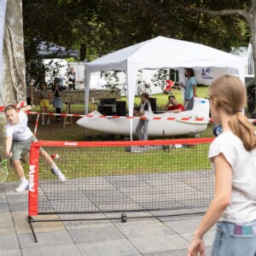
[[[197,84],[212,84],[212,80],[226,73],[229,73],[228,68],[223,67],[202,67],[195,69],[195,78]]]

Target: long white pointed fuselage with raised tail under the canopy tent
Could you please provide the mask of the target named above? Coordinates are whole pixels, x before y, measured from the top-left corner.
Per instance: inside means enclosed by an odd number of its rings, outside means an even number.
[[[209,123],[209,101],[195,97],[189,102],[188,107],[190,110],[180,113],[149,113],[148,137],[170,137],[205,131]],[[139,121],[137,117],[132,118],[131,122],[131,118],[128,117],[102,117],[102,113],[98,111],[88,115],[90,117],[79,119],[77,124],[93,131],[125,136],[130,136],[130,124],[132,124],[132,135],[136,135]]]

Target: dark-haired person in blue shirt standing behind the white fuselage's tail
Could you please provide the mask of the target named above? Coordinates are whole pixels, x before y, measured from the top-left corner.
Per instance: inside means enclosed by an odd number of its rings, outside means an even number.
[[[185,68],[185,92],[184,92],[184,107],[186,108],[192,97],[196,96],[196,79],[193,68]]]

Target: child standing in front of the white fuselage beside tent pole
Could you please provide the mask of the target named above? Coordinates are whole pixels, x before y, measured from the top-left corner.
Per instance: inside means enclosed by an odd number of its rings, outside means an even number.
[[[143,93],[141,95],[140,110],[137,112],[136,116],[148,117],[149,113],[149,96],[148,93]],[[140,119],[136,128],[137,138],[140,141],[148,140],[148,119]]]

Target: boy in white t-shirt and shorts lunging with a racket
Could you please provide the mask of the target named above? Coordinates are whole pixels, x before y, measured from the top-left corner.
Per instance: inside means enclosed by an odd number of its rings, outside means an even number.
[[[20,185],[15,189],[16,192],[28,189],[28,180],[20,164],[20,154],[22,154],[24,150],[30,151],[31,143],[37,141],[37,138],[27,126],[27,116],[25,113],[27,110],[31,110],[31,106],[28,105],[24,108],[20,108],[20,110],[17,110],[14,105],[9,105],[4,108],[5,117],[7,119],[5,152],[6,156],[12,161],[17,176],[20,178]],[[58,176],[61,181],[65,181],[66,177],[43,148],[40,148],[40,154],[51,167],[51,172]]]

